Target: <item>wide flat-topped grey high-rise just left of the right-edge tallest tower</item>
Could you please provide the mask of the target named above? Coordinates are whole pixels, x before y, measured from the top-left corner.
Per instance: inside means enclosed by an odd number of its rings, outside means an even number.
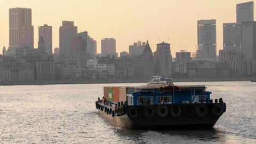
[[[241,51],[241,23],[223,23],[223,50]]]

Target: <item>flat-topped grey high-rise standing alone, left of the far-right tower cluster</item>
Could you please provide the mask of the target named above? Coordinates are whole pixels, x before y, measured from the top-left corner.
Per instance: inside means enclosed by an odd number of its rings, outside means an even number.
[[[216,20],[197,21],[197,45],[212,61],[216,61]]]

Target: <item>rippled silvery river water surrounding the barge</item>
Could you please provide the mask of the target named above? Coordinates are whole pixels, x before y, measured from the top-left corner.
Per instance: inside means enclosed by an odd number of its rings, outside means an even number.
[[[256,143],[256,83],[183,82],[206,85],[227,111],[212,130],[124,130],[97,114],[103,86],[73,84],[0,86],[0,143]]]

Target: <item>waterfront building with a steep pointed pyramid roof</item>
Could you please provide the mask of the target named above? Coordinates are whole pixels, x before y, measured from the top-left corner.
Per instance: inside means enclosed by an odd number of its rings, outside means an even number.
[[[134,63],[134,78],[145,79],[149,81],[150,79],[152,79],[152,76],[155,75],[155,60],[148,41],[145,49],[143,50],[143,53],[139,56],[132,58],[132,61]]]

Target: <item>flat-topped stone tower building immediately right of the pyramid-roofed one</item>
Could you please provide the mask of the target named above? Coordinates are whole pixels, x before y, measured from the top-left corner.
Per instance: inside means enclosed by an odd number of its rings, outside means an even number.
[[[168,43],[159,43],[154,52],[155,75],[170,77],[172,74],[171,47]]]

